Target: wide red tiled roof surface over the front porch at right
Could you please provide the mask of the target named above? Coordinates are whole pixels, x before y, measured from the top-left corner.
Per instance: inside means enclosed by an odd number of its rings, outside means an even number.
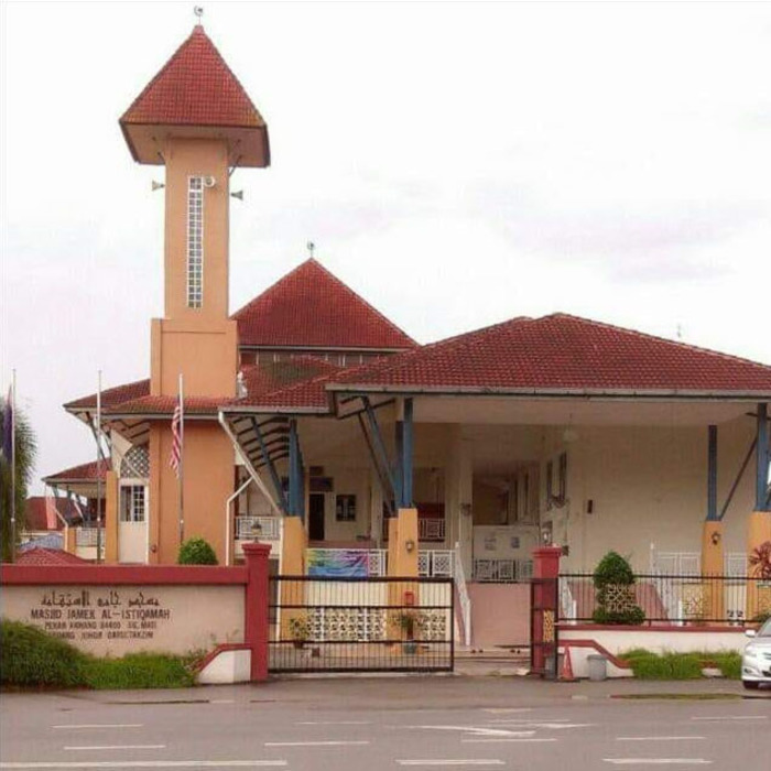
[[[771,395],[771,367],[566,314],[513,318],[343,373],[393,390],[727,392]]]

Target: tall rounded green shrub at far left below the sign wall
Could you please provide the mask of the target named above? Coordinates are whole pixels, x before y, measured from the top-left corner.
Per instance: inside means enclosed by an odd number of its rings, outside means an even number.
[[[75,687],[84,684],[88,658],[64,640],[19,621],[0,622],[0,683]]]

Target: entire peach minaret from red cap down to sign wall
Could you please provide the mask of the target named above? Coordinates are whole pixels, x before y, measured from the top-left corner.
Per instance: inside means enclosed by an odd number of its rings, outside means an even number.
[[[164,317],[151,323],[148,558],[174,563],[182,539],[202,536],[221,563],[234,450],[216,405],[236,395],[238,371],[238,328],[228,316],[229,176],[269,165],[268,127],[196,25],[120,128],[138,163],[165,166]],[[185,414],[188,405],[208,406],[184,422],[177,477],[169,458],[180,374]]]

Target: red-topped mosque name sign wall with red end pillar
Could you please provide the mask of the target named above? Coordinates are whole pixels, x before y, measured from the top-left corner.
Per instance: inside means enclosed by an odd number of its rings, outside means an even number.
[[[0,615],[96,655],[211,650],[205,682],[264,680],[270,546],[243,553],[245,567],[2,565]]]

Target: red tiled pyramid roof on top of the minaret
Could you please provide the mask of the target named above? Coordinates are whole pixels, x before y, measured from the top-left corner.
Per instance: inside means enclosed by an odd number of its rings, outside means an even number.
[[[246,129],[265,126],[200,25],[137,97],[120,122]]]

